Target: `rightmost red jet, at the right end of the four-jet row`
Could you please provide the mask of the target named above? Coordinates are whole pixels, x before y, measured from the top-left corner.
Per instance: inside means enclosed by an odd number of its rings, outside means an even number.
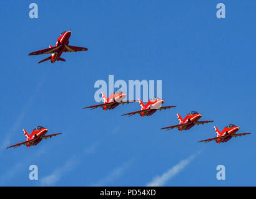
[[[239,131],[239,127],[235,126],[234,124],[229,124],[228,126],[225,126],[224,129],[222,130],[222,132],[220,132],[216,126],[214,126],[214,129],[217,134],[217,137],[205,139],[205,140],[199,141],[199,142],[207,143],[210,141],[215,141],[219,144],[220,142],[229,141],[232,137],[237,137],[237,136],[240,137],[240,136],[245,136],[245,135],[250,134],[250,132],[236,133],[237,131]]]

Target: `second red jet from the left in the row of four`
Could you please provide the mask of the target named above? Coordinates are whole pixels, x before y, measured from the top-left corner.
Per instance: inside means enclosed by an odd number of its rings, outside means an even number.
[[[150,99],[147,104],[144,104],[140,99],[139,99],[139,104],[140,104],[140,111],[135,111],[135,112],[131,112],[131,113],[126,113],[126,114],[122,114],[122,116],[133,116],[134,114],[140,114],[140,116],[144,117],[144,116],[150,116],[153,113],[155,113],[155,111],[157,110],[162,110],[162,109],[169,109],[169,108],[173,108],[176,106],[162,106],[162,104],[164,103],[163,99],[160,98],[153,98]]]

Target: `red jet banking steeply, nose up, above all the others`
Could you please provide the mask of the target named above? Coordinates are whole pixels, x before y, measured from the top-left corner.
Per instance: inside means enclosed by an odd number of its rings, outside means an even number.
[[[57,39],[56,45],[52,47],[49,46],[49,49],[38,50],[36,52],[31,52],[29,55],[42,55],[42,54],[51,54],[50,57],[45,58],[41,62],[51,60],[52,63],[57,61],[66,62],[64,58],[61,58],[62,52],[77,52],[77,51],[86,51],[87,48],[76,47],[69,45],[69,37],[71,36],[71,31],[64,31],[61,33],[61,36]],[[38,63],[41,63],[38,62]]]

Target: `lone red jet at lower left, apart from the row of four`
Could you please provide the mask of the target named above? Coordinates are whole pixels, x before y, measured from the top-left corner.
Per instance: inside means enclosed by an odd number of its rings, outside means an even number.
[[[6,149],[11,148],[11,147],[16,148],[16,147],[21,146],[22,144],[26,145],[27,147],[36,146],[39,142],[42,141],[42,139],[47,139],[49,137],[53,137],[53,136],[57,136],[57,135],[61,134],[61,133],[56,133],[56,134],[54,133],[54,134],[46,136],[48,129],[46,129],[45,127],[42,127],[42,126],[37,126],[31,132],[30,135],[27,133],[27,131],[25,129],[23,129],[23,132],[26,137],[26,141],[18,143],[18,144],[14,144],[12,146],[7,147]]]

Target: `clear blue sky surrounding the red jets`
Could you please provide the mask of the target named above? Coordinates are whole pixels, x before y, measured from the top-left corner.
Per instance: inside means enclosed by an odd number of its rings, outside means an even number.
[[[39,18],[29,18],[36,2]],[[255,1],[1,1],[0,185],[144,186],[197,154],[165,186],[255,186]],[[44,62],[29,52],[54,45],[71,29],[67,62]],[[94,83],[162,80],[165,105],[150,117],[121,117],[139,104],[111,111],[96,104]],[[198,111],[214,123],[180,133],[160,127]],[[225,144],[214,125],[240,126],[249,136]],[[36,147],[5,149],[38,125],[59,137]],[[39,180],[29,180],[29,165]],[[226,180],[216,179],[225,165]]]

